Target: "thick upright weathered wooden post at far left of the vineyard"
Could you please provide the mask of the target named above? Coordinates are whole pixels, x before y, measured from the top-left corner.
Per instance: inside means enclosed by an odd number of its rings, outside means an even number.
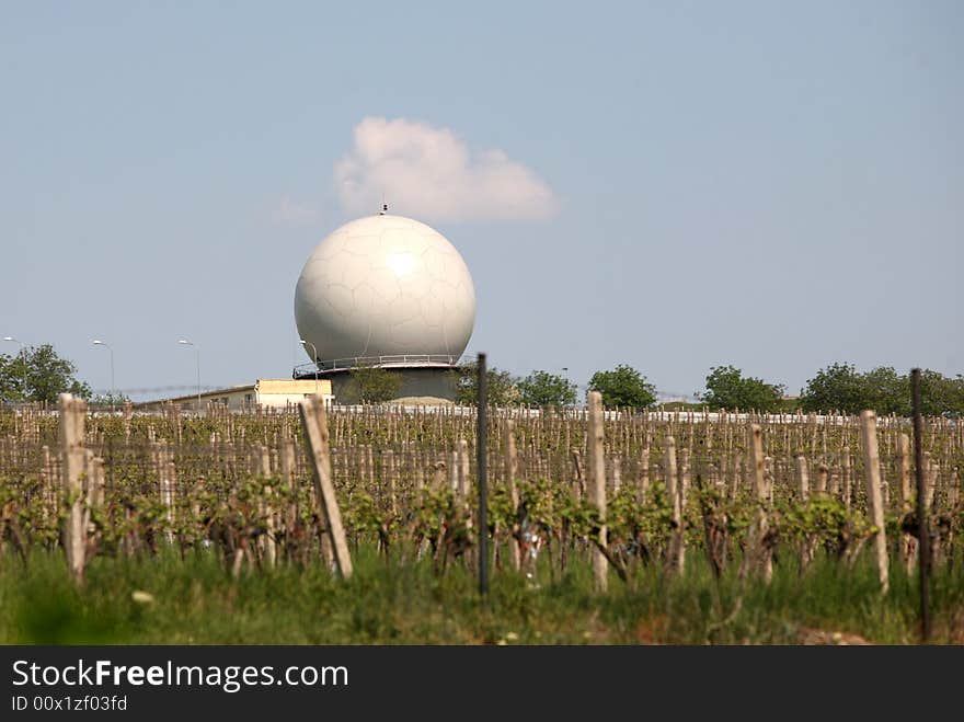
[[[83,425],[87,402],[69,393],[60,394],[60,456],[64,469],[64,495],[68,512],[64,520],[64,549],[74,583],[83,584],[85,553],[84,494],[81,474],[87,466],[83,449]]]

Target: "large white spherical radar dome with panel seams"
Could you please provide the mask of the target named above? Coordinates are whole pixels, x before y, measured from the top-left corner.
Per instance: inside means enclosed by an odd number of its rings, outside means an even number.
[[[474,322],[475,289],[462,256],[435,229],[401,216],[359,218],[335,230],[309,256],[295,288],[295,323],[322,362],[457,359]],[[313,349],[305,349],[314,360]]]

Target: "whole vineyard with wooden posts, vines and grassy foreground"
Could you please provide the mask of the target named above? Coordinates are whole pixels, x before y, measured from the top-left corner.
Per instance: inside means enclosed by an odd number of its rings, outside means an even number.
[[[2,641],[918,639],[906,419],[492,409],[485,601],[474,410],[303,406],[0,413]],[[962,643],[964,427],[922,438]]]

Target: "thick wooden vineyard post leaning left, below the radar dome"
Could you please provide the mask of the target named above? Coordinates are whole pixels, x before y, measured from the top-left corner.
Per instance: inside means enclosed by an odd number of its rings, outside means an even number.
[[[309,397],[300,403],[299,410],[301,424],[305,426],[305,438],[308,442],[311,468],[314,472],[314,489],[334,551],[335,566],[343,578],[348,578],[352,576],[352,558],[348,554],[345,528],[342,526],[342,513],[335,498],[324,403],[317,396]]]

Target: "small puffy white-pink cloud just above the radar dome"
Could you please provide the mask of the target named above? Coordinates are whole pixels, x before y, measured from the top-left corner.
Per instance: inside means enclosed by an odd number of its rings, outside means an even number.
[[[404,118],[364,118],[334,175],[342,206],[355,214],[374,213],[382,196],[390,210],[434,220],[548,218],[559,206],[503,151],[472,153],[448,128]]]

